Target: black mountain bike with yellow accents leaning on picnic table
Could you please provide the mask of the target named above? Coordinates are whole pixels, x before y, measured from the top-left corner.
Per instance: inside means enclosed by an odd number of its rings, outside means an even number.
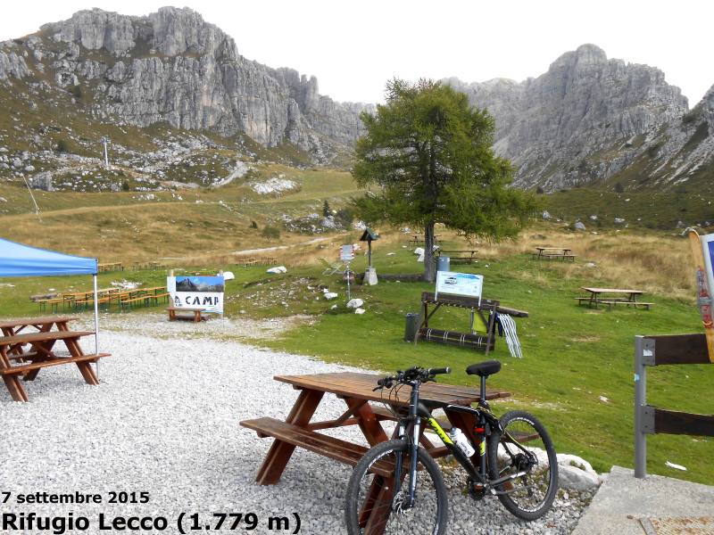
[[[393,439],[369,449],[354,467],[345,506],[350,535],[444,533],[446,486],[436,461],[419,445],[422,422],[436,432],[468,474],[471,497],[497,496],[511,514],[527,521],[548,511],[558,490],[558,462],[551,437],[544,425],[525,411],[512,411],[500,419],[494,416],[486,402],[486,377],[500,370],[498,360],[466,368],[467,374],[481,378],[477,407],[429,403],[432,409],[442,407],[473,416],[475,448],[461,430],[454,427],[451,433],[444,432],[419,401],[419,386],[436,381],[437,374],[450,374],[451,368],[413,366],[378,380],[374,390],[390,391],[386,406],[398,423]],[[400,406],[396,394],[405,386],[411,387],[410,401]]]

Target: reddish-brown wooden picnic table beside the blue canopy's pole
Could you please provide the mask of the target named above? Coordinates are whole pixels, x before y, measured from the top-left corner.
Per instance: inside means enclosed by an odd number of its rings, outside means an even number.
[[[30,323],[29,325],[34,324]],[[89,363],[96,362],[102,357],[109,357],[109,353],[85,355],[79,347],[79,338],[94,334],[90,331],[59,330],[0,337],[0,375],[2,375],[12,399],[29,401],[27,391],[20,381],[20,375],[24,375],[25,381],[34,381],[39,370],[47,366],[74,362],[87,383],[99,384],[99,378]],[[54,353],[54,343],[58,340],[64,341],[67,349],[70,350],[71,357],[58,357]],[[31,344],[30,350],[18,355],[15,351],[27,343]],[[13,366],[12,361],[19,359],[29,360],[29,363],[21,362],[19,365]]]

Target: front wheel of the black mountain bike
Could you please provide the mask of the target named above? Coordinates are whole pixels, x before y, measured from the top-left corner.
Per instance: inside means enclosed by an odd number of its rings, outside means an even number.
[[[402,457],[402,481],[394,472]],[[381,533],[442,535],[446,531],[446,487],[434,459],[419,448],[414,504],[407,506],[411,454],[404,440],[386,440],[364,454],[347,486],[345,519],[350,535]]]

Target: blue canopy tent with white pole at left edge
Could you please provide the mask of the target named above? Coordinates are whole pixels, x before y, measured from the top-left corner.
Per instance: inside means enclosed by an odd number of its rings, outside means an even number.
[[[95,349],[99,354],[99,309],[96,302],[96,259],[45,251],[0,238],[0,277],[92,275],[95,284]],[[99,363],[97,362],[97,366]],[[98,374],[98,370],[97,370]]]

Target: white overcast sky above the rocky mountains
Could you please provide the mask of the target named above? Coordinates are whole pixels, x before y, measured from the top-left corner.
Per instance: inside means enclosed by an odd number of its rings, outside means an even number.
[[[129,15],[155,12],[154,0],[35,0],[4,3],[0,40],[99,7]],[[188,6],[234,37],[238,52],[273,68],[315,75],[320,95],[338,102],[383,102],[398,77],[466,82],[537,78],[562,53],[592,43],[608,58],[663,70],[693,107],[714,85],[714,1],[597,2],[482,0],[253,0]]]

